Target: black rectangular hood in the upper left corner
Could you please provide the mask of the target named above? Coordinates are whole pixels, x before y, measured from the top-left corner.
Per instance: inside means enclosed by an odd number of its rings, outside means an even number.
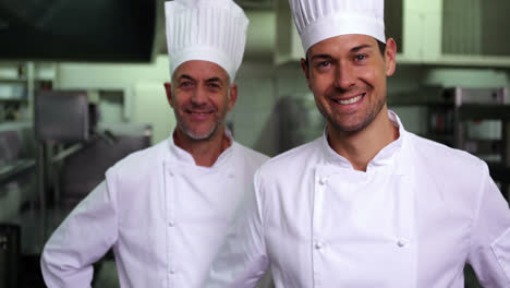
[[[0,60],[148,62],[156,0],[0,0]]]

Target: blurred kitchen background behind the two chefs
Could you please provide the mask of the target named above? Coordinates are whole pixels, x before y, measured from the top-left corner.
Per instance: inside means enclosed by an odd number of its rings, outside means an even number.
[[[38,261],[65,215],[125,155],[175,120],[162,0],[0,0],[0,287],[44,287]],[[324,120],[299,60],[287,0],[238,0],[250,19],[228,116],[238,142],[269,156]],[[508,199],[508,0],[386,0],[398,45],[388,104],[406,130],[485,159]],[[111,254],[95,287],[118,287]],[[466,287],[478,287],[466,267]]]

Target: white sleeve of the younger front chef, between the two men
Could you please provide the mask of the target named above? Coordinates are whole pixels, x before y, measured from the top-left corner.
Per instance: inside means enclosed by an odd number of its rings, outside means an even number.
[[[219,250],[205,281],[206,288],[253,288],[268,267],[257,173],[255,190],[241,205],[235,224]]]

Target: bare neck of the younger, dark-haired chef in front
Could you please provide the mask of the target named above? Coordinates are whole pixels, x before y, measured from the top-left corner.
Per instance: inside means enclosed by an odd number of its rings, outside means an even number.
[[[366,171],[368,163],[377,153],[398,137],[399,130],[391,123],[386,106],[374,121],[361,131],[336,131],[328,124],[328,142],[331,148],[360,171]]]

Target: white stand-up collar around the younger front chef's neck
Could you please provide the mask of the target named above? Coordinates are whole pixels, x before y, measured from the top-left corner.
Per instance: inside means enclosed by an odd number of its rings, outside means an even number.
[[[393,166],[397,155],[400,154],[399,152],[404,145],[403,143],[406,139],[408,132],[403,128],[402,122],[400,121],[399,117],[391,110],[388,110],[388,117],[391,123],[399,129],[399,137],[390,144],[386,145],[382,149],[379,151],[379,153],[377,153],[377,155],[368,163],[367,171],[377,167],[384,167],[389,165]],[[327,161],[335,163],[336,165],[339,165],[344,168],[354,169],[352,164],[345,157],[339,155],[336,151],[331,148],[331,146],[328,143],[327,129],[325,129],[324,131],[321,142],[323,148],[326,153]]]

